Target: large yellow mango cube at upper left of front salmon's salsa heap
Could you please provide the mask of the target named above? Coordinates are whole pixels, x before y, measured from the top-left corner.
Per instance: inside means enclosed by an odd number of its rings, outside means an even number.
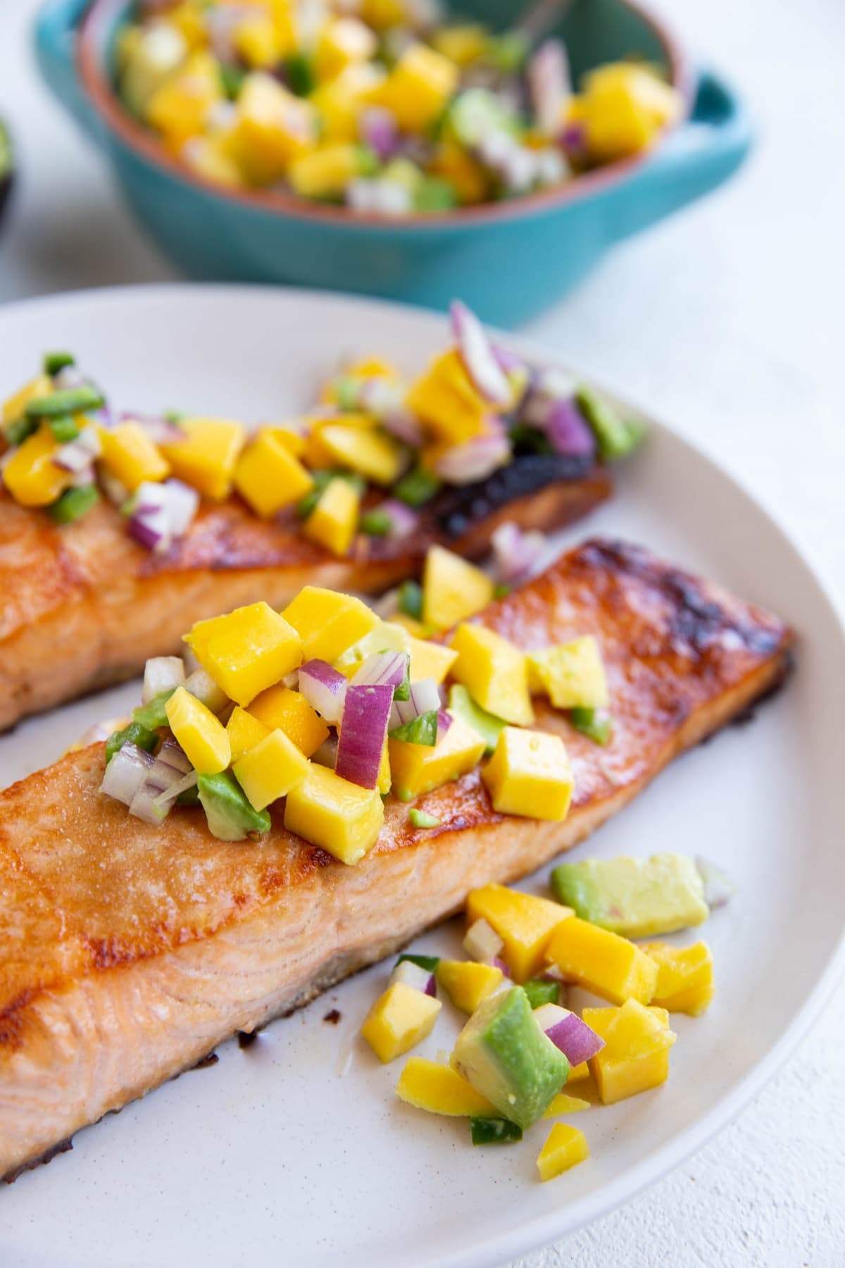
[[[245,709],[302,663],[299,634],[265,602],[196,621],[185,642],[205,672]]]

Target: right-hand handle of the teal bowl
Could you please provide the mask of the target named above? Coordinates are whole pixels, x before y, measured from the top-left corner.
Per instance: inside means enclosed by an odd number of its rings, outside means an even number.
[[[687,122],[619,184],[613,236],[636,233],[716,189],[744,162],[753,132],[742,99],[715,71],[702,70]]]

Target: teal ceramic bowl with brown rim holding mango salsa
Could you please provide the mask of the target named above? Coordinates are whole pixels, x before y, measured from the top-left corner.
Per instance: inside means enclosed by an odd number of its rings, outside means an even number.
[[[521,3],[462,0],[505,27]],[[641,55],[663,62],[689,109],[647,156],[542,194],[402,221],[265,191],[229,191],[172,160],[113,91],[127,0],[49,0],[35,42],[44,80],[105,152],[118,185],[166,254],[199,279],[290,283],[445,308],[461,295],[498,326],[536,316],[613,243],[715,189],[749,151],[749,117],[712,71],[692,76],[671,36],[628,0],[573,0],[559,33],[575,76]]]

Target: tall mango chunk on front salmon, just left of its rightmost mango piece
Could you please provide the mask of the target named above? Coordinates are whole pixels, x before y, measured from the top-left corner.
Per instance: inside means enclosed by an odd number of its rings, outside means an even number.
[[[450,639],[457,661],[451,673],[481,709],[518,727],[535,719],[524,654],[484,625],[459,625]]]

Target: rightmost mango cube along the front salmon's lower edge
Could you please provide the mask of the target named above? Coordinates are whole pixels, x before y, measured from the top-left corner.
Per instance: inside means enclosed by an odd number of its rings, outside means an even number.
[[[499,814],[552,820],[569,814],[575,780],[560,735],[505,727],[481,779]]]

